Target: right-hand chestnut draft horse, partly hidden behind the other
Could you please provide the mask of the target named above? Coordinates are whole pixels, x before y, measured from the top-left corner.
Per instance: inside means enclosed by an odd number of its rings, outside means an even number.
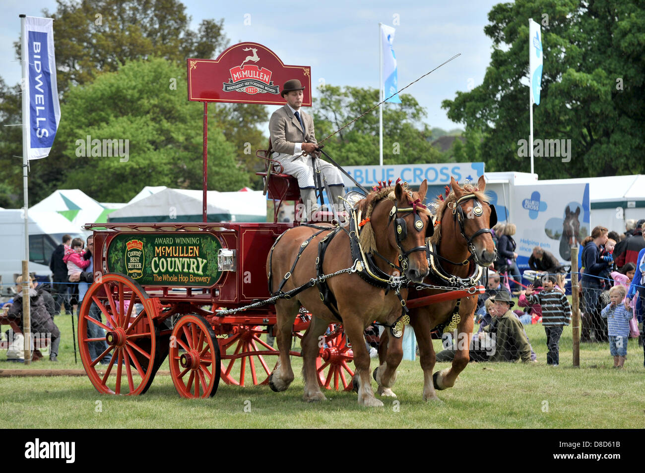
[[[465,184],[463,188],[455,179],[450,180],[452,191],[445,200],[437,200],[438,220],[435,233],[430,240],[430,275],[424,282],[427,284],[464,289],[475,285],[481,275],[481,267],[488,267],[497,251],[491,237],[490,227],[497,223],[495,207],[488,203],[484,195],[486,182],[480,177],[476,186]],[[484,205],[482,205],[484,204]],[[437,256],[438,255],[438,256]],[[410,290],[409,297],[430,296],[444,293],[445,289]],[[423,369],[423,400],[439,400],[435,389],[452,387],[457,375],[464,370],[469,361],[469,347],[473,334],[473,314],[477,307],[478,295],[459,300],[446,300],[432,305],[410,309],[410,325],[419,343],[419,358]],[[459,306],[457,307],[457,303]],[[455,307],[457,309],[455,310]],[[453,314],[459,317],[453,319]],[[450,322],[453,322],[452,326]],[[436,355],[432,346],[430,332],[439,328],[458,329],[457,351],[452,368],[447,368],[432,375]],[[388,337],[384,332],[379,346],[381,365],[374,371],[374,378],[379,384],[381,396],[396,397],[392,385],[396,380],[396,370],[403,357],[402,339]]]

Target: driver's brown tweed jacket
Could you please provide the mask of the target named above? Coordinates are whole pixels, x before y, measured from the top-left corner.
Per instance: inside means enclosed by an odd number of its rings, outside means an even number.
[[[312,116],[303,111],[302,108],[299,112],[304,123],[304,135],[300,122],[293,115],[287,104],[274,111],[273,115],[271,115],[269,132],[273,151],[276,153],[291,156],[295,153],[296,143],[317,143]]]

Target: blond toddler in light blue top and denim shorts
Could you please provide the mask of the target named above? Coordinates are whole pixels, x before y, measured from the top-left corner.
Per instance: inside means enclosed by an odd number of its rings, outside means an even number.
[[[607,319],[609,349],[613,355],[613,367],[622,368],[627,356],[627,337],[630,334],[631,310],[625,307],[627,289],[615,285],[609,290],[610,304],[602,309],[600,316]]]

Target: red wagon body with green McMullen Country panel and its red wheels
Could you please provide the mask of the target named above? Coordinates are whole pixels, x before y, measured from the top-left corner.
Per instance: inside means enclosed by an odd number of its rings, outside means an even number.
[[[241,386],[266,383],[278,353],[262,336],[275,324],[273,306],[230,315],[215,311],[270,296],[266,256],[293,224],[101,226],[94,229],[95,282],[79,321],[81,358],[99,392],[143,394],[166,356],[184,397],[212,396],[220,378]],[[92,302],[104,323],[90,315]],[[303,312],[294,333],[309,321]],[[90,344],[103,340],[88,336],[90,323],[106,332],[108,349],[98,358],[90,355]],[[352,351],[340,326],[330,327],[320,357],[321,384],[348,388]]]

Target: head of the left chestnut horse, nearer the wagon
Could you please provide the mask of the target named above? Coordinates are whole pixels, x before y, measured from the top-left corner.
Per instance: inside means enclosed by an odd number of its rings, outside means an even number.
[[[364,251],[397,255],[401,270],[413,282],[422,282],[429,272],[426,237],[432,236],[433,223],[423,204],[426,191],[426,180],[419,192],[397,183],[373,193],[363,204],[363,215],[370,220],[361,232]]]

